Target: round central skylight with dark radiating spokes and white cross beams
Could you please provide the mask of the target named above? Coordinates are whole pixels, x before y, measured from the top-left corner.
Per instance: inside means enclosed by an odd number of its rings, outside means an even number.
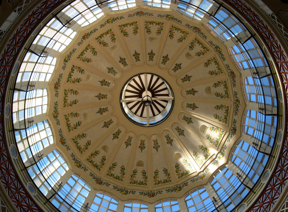
[[[123,86],[120,105],[130,121],[142,126],[154,126],[170,115],[174,105],[173,91],[162,77],[141,73]]]

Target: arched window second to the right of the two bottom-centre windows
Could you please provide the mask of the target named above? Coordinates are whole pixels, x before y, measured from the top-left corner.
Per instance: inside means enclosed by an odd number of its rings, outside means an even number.
[[[226,208],[235,208],[249,192],[226,166],[213,175],[210,183]]]

